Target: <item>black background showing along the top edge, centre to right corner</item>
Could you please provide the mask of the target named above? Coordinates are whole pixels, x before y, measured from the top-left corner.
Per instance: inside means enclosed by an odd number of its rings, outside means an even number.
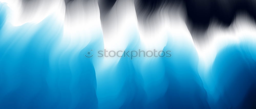
[[[113,7],[116,0],[99,0],[101,20]],[[135,0],[138,19],[146,19],[163,5],[184,4],[189,31],[205,32],[213,19],[228,27],[238,12],[246,12],[256,18],[255,0]]]

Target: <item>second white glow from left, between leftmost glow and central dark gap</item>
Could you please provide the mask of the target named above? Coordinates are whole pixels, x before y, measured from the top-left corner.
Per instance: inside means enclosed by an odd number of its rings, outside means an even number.
[[[101,31],[97,1],[72,1],[66,4],[64,37],[70,49],[82,50]]]

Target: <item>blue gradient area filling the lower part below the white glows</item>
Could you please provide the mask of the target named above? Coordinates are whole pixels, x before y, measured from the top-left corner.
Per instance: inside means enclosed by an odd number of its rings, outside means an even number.
[[[0,9],[0,108],[256,108],[253,41],[219,51],[206,76],[185,39],[168,40],[171,58],[122,57],[95,72],[99,59],[84,55],[104,49],[101,30],[85,48],[70,47],[54,16],[12,26],[6,4]],[[138,50],[139,40],[126,50]]]

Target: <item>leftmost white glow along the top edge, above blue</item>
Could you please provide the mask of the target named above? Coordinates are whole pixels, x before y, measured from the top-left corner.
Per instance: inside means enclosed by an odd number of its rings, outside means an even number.
[[[39,23],[49,15],[54,15],[56,19],[63,21],[65,13],[65,3],[63,0],[28,1],[22,0],[0,0],[7,3],[11,9],[8,22],[14,26],[25,23]]]

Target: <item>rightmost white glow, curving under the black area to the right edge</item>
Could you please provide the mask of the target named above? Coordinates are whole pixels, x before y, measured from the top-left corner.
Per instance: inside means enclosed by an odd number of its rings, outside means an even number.
[[[196,43],[199,72],[202,74],[208,72],[217,53],[226,46],[243,43],[247,40],[256,42],[256,26],[254,24],[253,20],[244,14],[238,14],[228,28],[223,28],[213,22],[206,34],[209,40],[203,44]]]

